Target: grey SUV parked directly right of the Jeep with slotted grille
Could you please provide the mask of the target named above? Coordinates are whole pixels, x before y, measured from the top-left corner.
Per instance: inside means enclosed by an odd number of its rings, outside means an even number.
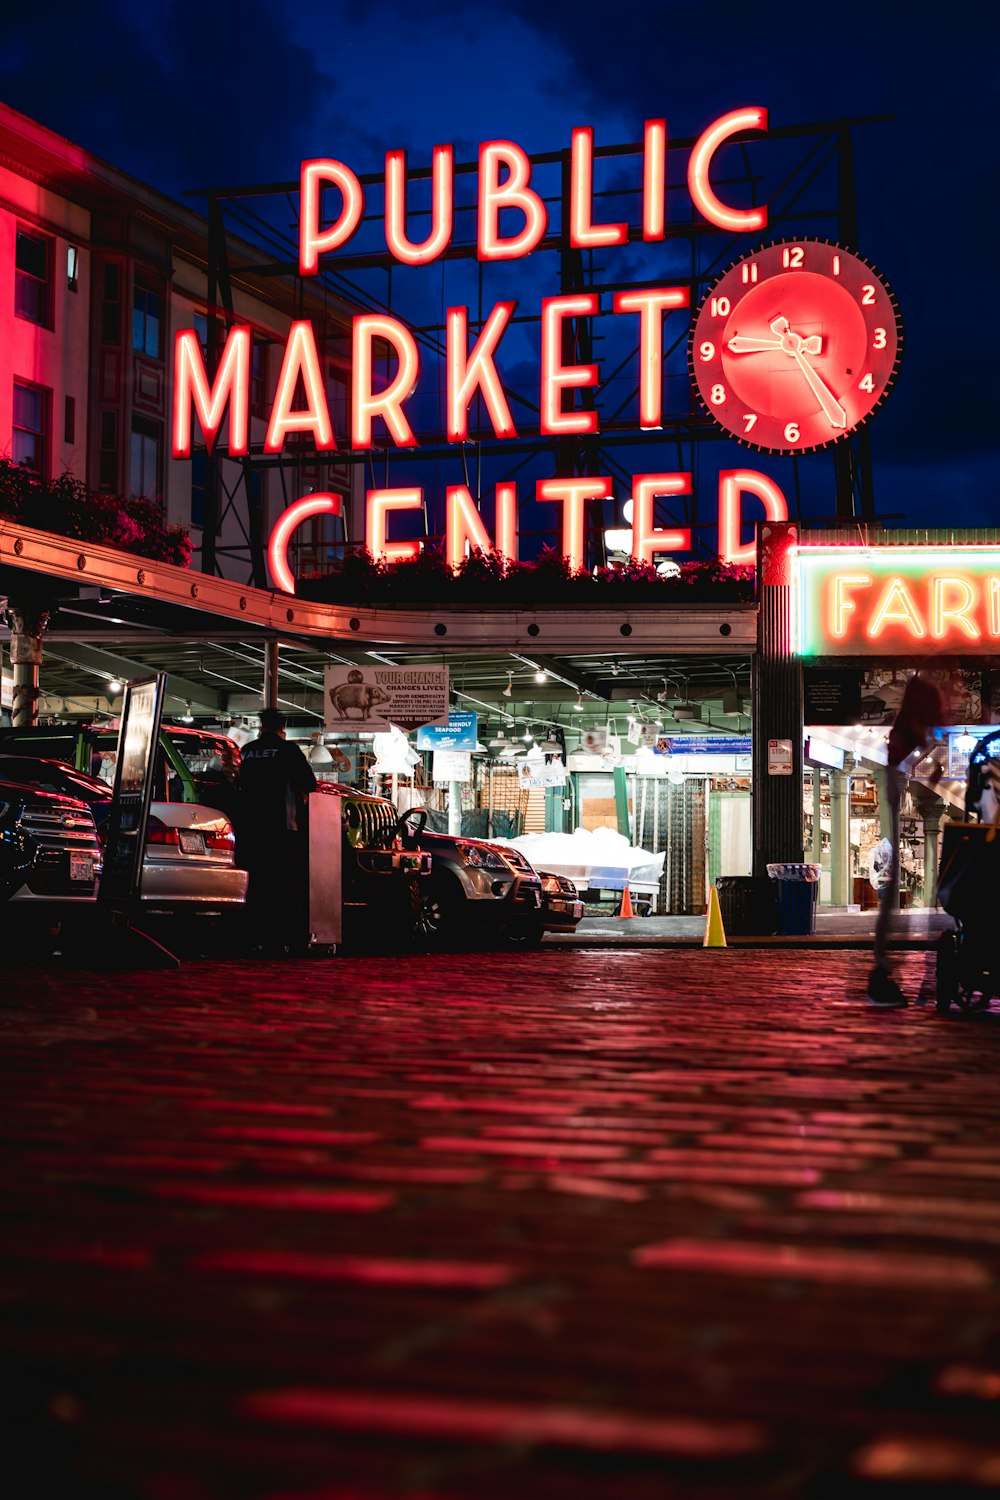
[[[541,942],[541,879],[519,849],[427,832],[424,807],[411,807],[397,828],[406,849],[426,849],[433,861],[420,936],[435,944],[484,938],[514,948]]]

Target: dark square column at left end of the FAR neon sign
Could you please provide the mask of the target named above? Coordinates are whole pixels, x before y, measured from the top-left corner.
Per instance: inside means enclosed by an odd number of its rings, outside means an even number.
[[[754,874],[802,862],[802,666],[792,651],[792,549],[798,526],[757,528],[757,656],[753,670]],[[768,741],[792,741],[792,776],[768,774]]]

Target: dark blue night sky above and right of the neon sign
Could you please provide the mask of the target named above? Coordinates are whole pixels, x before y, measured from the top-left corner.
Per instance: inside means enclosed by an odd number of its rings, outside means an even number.
[[[489,138],[558,150],[574,124],[592,124],[598,146],[640,140],[654,116],[691,136],[748,104],[766,105],[774,126],[892,116],[855,135],[858,249],[906,324],[897,388],[871,426],[876,502],[915,524],[988,525],[1000,522],[1000,12],[924,14],[745,0],[49,0],[7,9],[0,98],[175,195],[294,178],[304,156],[364,172],[399,146],[414,165],[441,141],[456,160]]]

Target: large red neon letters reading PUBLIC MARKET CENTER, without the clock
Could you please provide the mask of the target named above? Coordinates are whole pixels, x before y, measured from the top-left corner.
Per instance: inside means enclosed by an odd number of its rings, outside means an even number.
[[[697,214],[729,232],[757,232],[768,225],[766,206],[751,208],[724,202],[712,186],[715,156],[727,141],[747,130],[768,130],[768,111],[748,106],[714,120],[696,141],[687,172],[687,188]],[[477,256],[481,261],[520,260],[529,255],[549,232],[543,196],[532,186],[528,154],[513,141],[486,141],[478,152]],[[445,255],[454,228],[454,150],[438,146],[430,164],[430,228],[423,240],[412,240],[408,228],[406,156],[402,150],[385,154],[384,232],[388,254],[405,266],[427,266]],[[646,120],[642,150],[642,216],[639,236],[655,243],[666,237],[667,126],[666,120]],[[324,213],[325,198],[334,201]],[[342,249],[364,220],[364,188],[343,162],[319,158],[301,164],[300,172],[298,268],[315,276],[325,255]],[[564,232],[577,249],[606,249],[627,244],[630,225],[595,222],[594,207],[594,132],[582,126],[571,134],[568,201]],[[651,286],[618,291],[610,310],[601,314],[595,292],[571,292],[541,300],[538,350],[538,432],[543,436],[592,435],[598,432],[594,406],[576,406],[574,393],[600,382],[598,366],[573,363],[567,351],[568,334],[577,318],[637,320],[639,332],[639,426],[663,426],[663,322],[675,309],[690,303],[688,286]],[[445,430],[450,442],[469,436],[469,408],[481,398],[493,436],[501,442],[517,438],[510,402],[498,369],[498,352],[511,324],[516,302],[498,302],[486,315],[471,346],[469,309],[448,308],[445,315]],[[376,357],[384,366],[388,354],[393,374],[388,381],[376,376]],[[214,378],[210,380],[198,334],[184,328],[177,334],[172,412],[174,458],[190,458],[193,423],[201,428],[208,450],[226,424],[226,452],[231,458],[249,453],[250,444],[250,364],[252,330],[246,324],[228,330]],[[270,410],[264,452],[279,454],[286,441],[307,436],[319,453],[343,447],[367,452],[385,441],[397,448],[418,448],[406,404],[421,376],[420,348],[412,332],[388,314],[364,312],[351,327],[351,429],[336,432],[327,400],[324,369],[312,321],[295,320],[286,334],[282,368]],[[657,528],[654,501],[687,495],[691,478],[684,472],[639,474],[633,480],[634,526],[633,556],[652,561],[660,554],[687,550],[691,544],[685,528]],[[570,564],[583,566],[585,510],[589,500],[613,494],[609,477],[547,478],[535,488],[537,501],[562,507],[562,550]],[[763,502],[771,520],[787,519],[781,490],[766,476],[751,470],[730,470],[720,476],[718,520],[720,556],[730,562],[753,562],[753,546],[741,544],[741,506],[744,495]],[[420,543],[390,540],[391,514],[423,506],[418,488],[373,489],[366,504],[366,544],[384,560],[414,556]],[[271,576],[280,588],[294,588],[288,568],[288,543],[304,520],[337,510],[336,496],[310,495],[297,501],[271,534],[268,556]],[[517,494],[513,484],[498,484],[495,495],[495,534],[490,538],[478,502],[465,486],[450,486],[445,495],[445,552],[457,566],[469,546],[495,549],[505,558],[517,554]]]

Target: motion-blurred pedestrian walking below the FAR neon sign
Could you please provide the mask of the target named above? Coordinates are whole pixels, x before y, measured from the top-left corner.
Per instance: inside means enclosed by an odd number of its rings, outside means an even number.
[[[889,730],[889,764],[885,774],[885,800],[889,812],[889,834],[882,843],[889,843],[888,876],[879,886],[879,916],[876,920],[874,968],[868,975],[868,1004],[880,1011],[897,1011],[909,1000],[892,978],[889,939],[897,906],[900,904],[900,802],[909,772],[924,759],[934,741],[933,729],[943,718],[942,694],[933,681],[915,672],[909,680],[900,711]],[[937,786],[942,778],[940,765],[934,765],[928,782]]]

